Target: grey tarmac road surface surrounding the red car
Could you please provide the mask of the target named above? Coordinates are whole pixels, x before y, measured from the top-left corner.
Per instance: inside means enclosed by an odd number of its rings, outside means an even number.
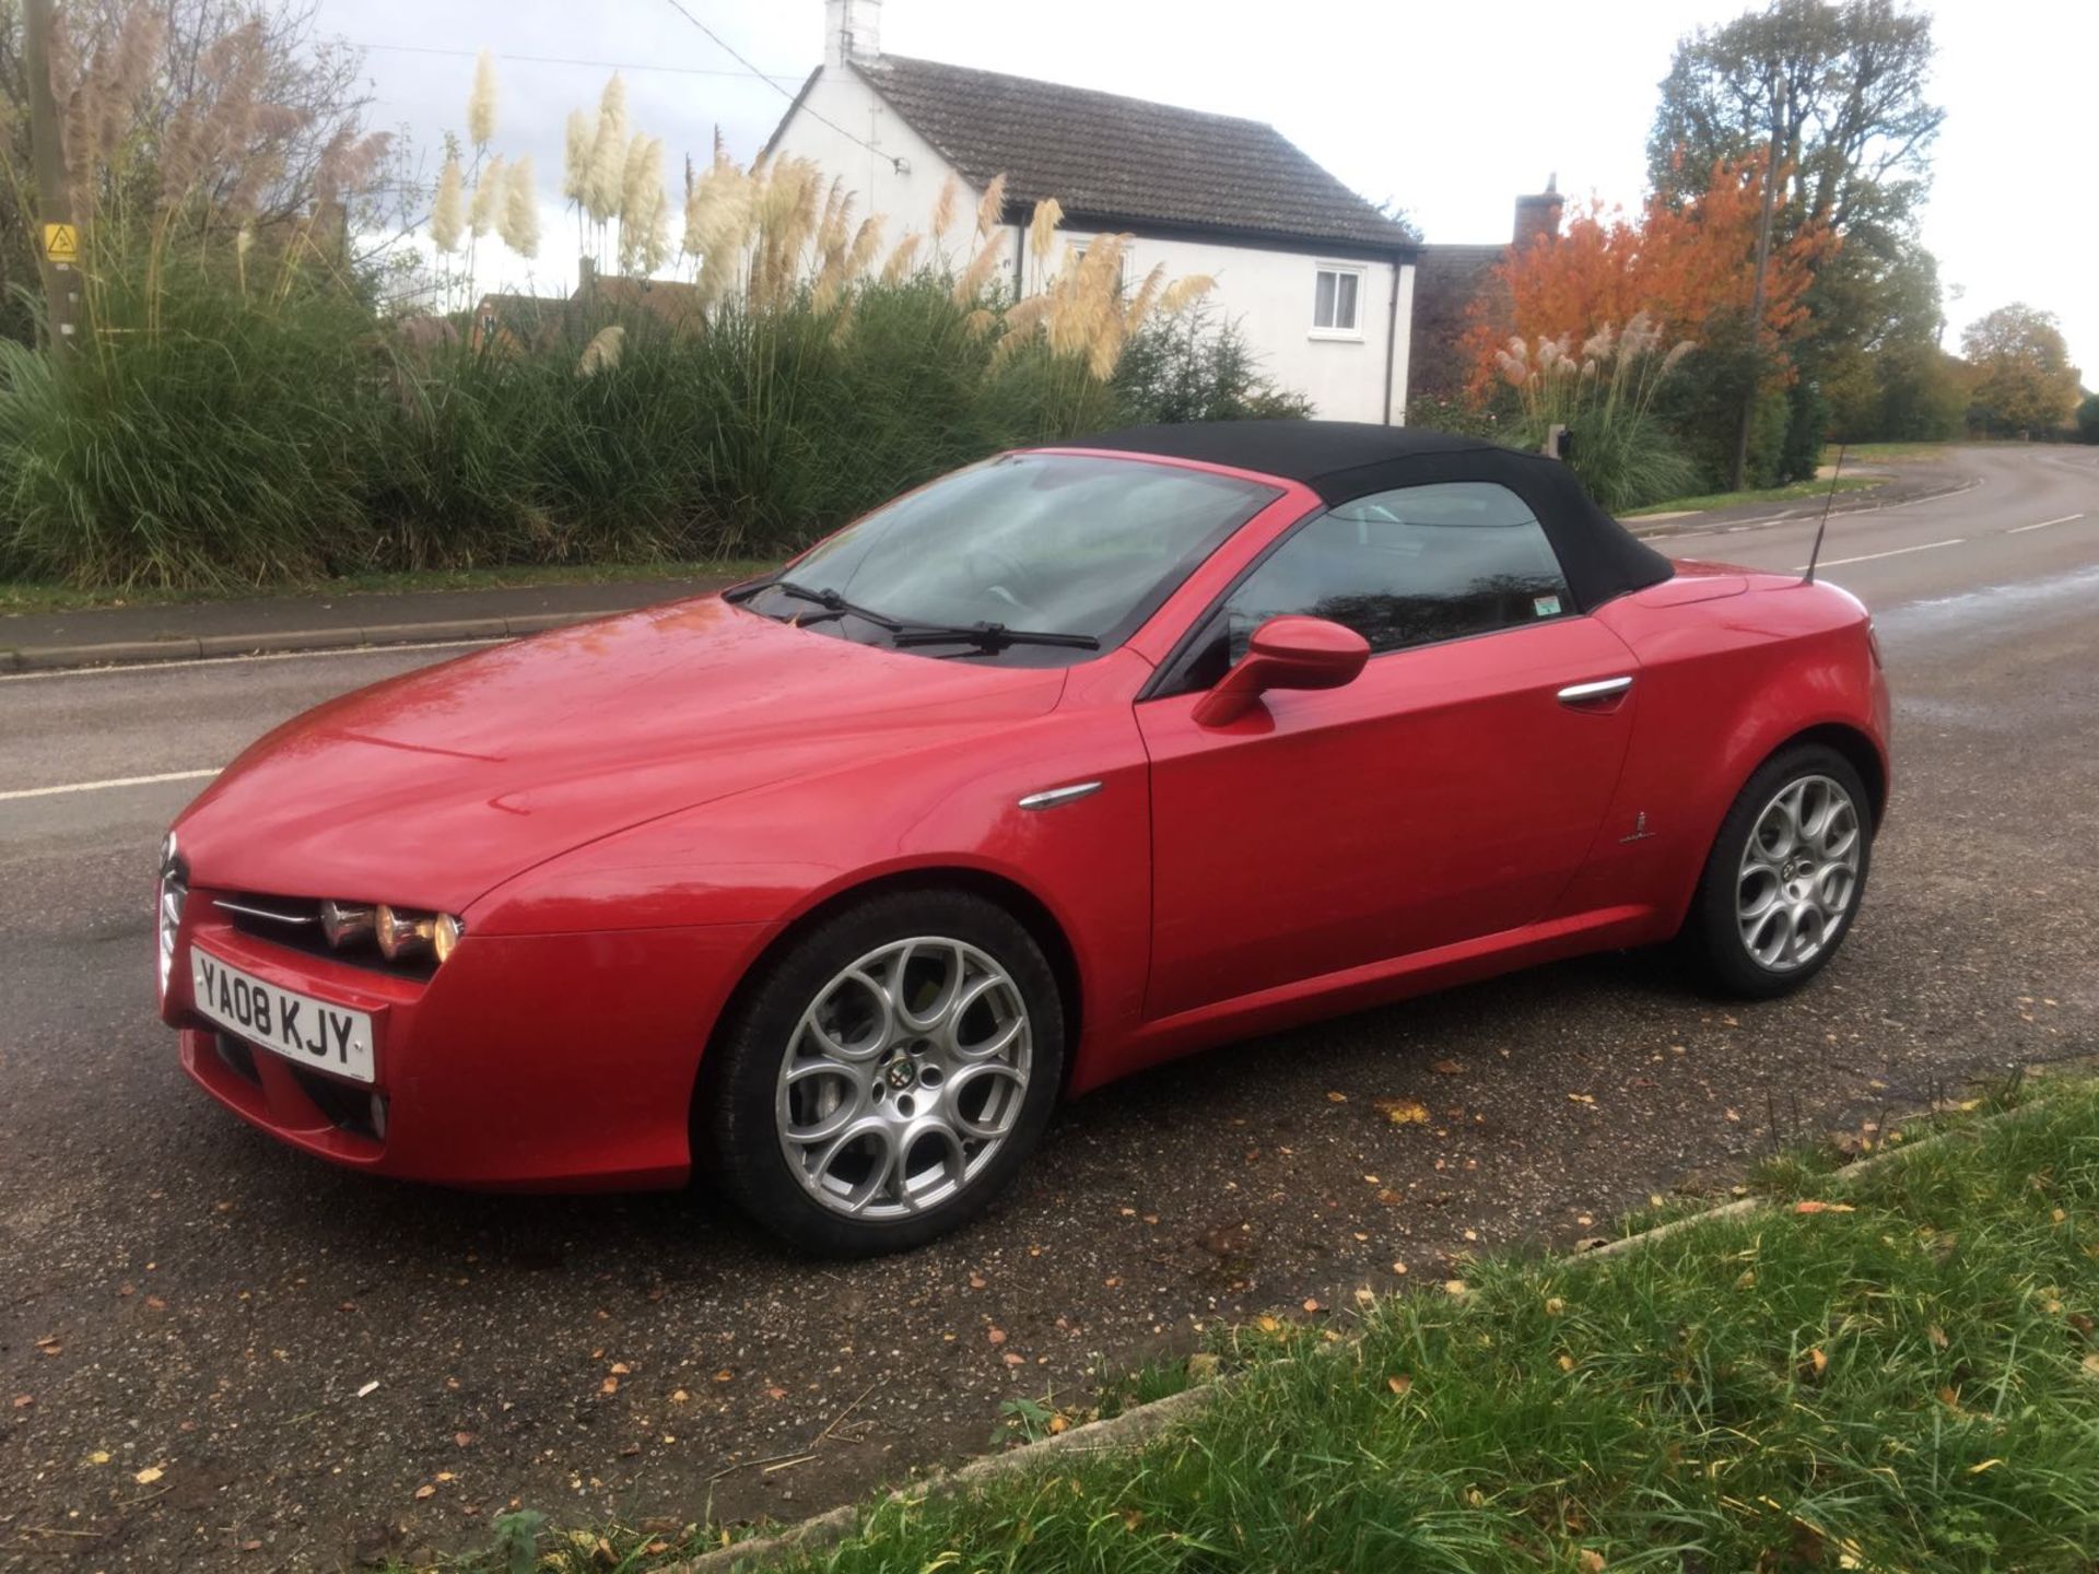
[[[1717,1007],[1610,957],[1224,1049],[1070,1106],[989,1221],[854,1268],[703,1192],[342,1175],[181,1077],[162,827],[277,718],[445,651],[0,678],[0,1568],[340,1568],[479,1540],[514,1498],[793,1517],[1196,1320],[1345,1320],[1358,1286],[1725,1186],[1774,1135],[2099,1049],[2099,453],[1946,466],[1977,485],[1824,546],[1877,613],[1897,789],[1816,986]],[[1665,546],[1790,569],[1811,535]]]

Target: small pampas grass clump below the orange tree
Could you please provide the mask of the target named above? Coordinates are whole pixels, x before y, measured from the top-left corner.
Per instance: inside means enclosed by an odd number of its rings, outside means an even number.
[[[1574,348],[1574,336],[1539,338],[1532,350],[1511,338],[1494,365],[1515,390],[1518,447],[1541,447],[1555,426],[1572,437],[1568,464],[1610,510],[1681,497],[1696,468],[1654,409],[1656,392],[1696,346],[1662,350],[1662,329],[1635,313],[1623,327],[1604,323]]]

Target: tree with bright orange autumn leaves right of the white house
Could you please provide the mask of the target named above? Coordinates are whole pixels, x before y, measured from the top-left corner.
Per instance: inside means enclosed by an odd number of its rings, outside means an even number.
[[[1694,201],[1648,197],[1629,218],[1593,201],[1562,235],[1541,235],[1497,269],[1494,292],[1473,302],[1465,334],[1469,388],[1494,386],[1511,336],[1526,344],[1581,342],[1633,317],[1660,329],[1660,342],[1702,342],[1721,317],[1746,319],[1757,290],[1757,225],[1763,214],[1763,159],[1719,162],[1713,185]],[[1761,342],[1767,353],[1805,319],[1801,296],[1816,262],[1835,250],[1824,225],[1774,239],[1763,281]],[[1778,367],[1790,376],[1782,359]]]

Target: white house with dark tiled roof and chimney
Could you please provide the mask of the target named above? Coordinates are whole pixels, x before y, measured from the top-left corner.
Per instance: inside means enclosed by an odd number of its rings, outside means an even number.
[[[825,50],[766,143],[844,176],[861,214],[924,231],[953,174],[968,193],[936,252],[976,250],[976,201],[1005,176],[1001,277],[1035,290],[1026,222],[1131,235],[1131,279],[1207,273],[1261,369],[1333,420],[1398,424],[1417,248],[1274,126],[882,52],[882,0],[825,0]]]

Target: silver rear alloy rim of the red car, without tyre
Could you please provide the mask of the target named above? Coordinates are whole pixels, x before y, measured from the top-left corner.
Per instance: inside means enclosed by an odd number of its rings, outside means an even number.
[[[1761,967],[1795,972],[1837,938],[1864,846],[1858,804],[1830,777],[1797,777],[1763,806],[1736,877],[1742,946]]]

